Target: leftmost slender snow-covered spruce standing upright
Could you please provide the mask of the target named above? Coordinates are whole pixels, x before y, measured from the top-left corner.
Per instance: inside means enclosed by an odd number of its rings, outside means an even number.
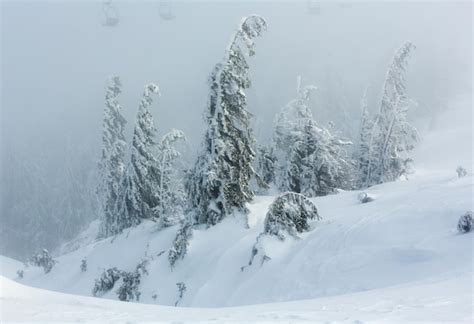
[[[105,94],[105,109],[102,133],[102,156],[99,163],[100,184],[98,194],[103,215],[100,235],[107,237],[120,231],[117,218],[117,202],[123,181],[126,150],[125,124],[118,95],[122,92],[120,78],[112,76],[108,80]]]

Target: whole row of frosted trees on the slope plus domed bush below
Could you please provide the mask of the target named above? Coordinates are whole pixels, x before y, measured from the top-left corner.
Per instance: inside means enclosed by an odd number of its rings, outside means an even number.
[[[275,117],[271,143],[257,145],[245,94],[251,84],[247,58],[255,55],[254,40],[266,27],[262,17],[245,17],[223,61],[213,69],[202,149],[195,164],[182,177],[175,162],[180,156],[176,143],[185,139],[184,134],[173,130],[161,141],[155,139],[150,107],[159,89],[154,84],[145,87],[130,160],[125,162],[126,122],[118,102],[121,84],[117,77],[110,79],[100,163],[104,237],[144,219],[156,221],[160,228],[180,223],[168,253],[173,267],[186,254],[194,227],[216,225],[232,214],[246,216],[246,204],[255,192],[263,193],[269,188],[288,192],[285,199],[272,205],[268,217],[274,225],[268,231],[283,235],[279,228],[290,222],[295,228],[283,227],[294,235],[307,229],[307,218],[319,219],[316,207],[306,197],[365,188],[406,174],[409,152],[417,137],[416,130],[407,122],[409,100],[404,82],[407,59],[414,45],[406,43],[395,53],[379,112],[374,117],[370,116],[364,96],[360,138],[355,148],[335,131],[334,124],[325,127],[317,122],[312,113],[317,88],[302,85],[301,79],[296,98]],[[288,208],[297,211],[295,219],[280,215]]]

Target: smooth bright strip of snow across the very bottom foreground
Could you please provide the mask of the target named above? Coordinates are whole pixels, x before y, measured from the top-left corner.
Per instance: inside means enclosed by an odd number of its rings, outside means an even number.
[[[470,323],[472,298],[466,281],[415,283],[337,297],[230,308],[166,307],[68,295],[18,284],[0,277],[1,318],[7,321],[205,321],[226,322],[394,322]]]

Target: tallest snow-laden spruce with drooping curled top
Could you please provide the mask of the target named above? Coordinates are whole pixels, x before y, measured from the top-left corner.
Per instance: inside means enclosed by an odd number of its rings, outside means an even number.
[[[204,147],[186,183],[196,224],[215,225],[234,210],[247,213],[245,204],[253,198],[249,182],[255,152],[244,92],[250,87],[246,56],[255,54],[253,40],[265,29],[263,18],[244,18],[224,61],[211,74]]]

